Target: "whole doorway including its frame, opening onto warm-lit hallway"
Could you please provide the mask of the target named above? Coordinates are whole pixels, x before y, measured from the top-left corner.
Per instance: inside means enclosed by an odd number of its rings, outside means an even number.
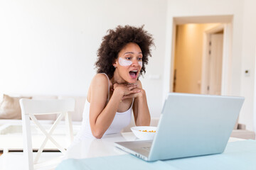
[[[213,19],[208,16],[174,18],[169,91],[192,94],[230,94],[232,17],[227,16],[225,23],[221,16],[214,17],[213,23],[210,22],[211,20]],[[183,37],[179,39],[181,30],[188,28],[201,30],[200,38],[198,33],[188,33],[187,30],[187,33],[183,33]],[[196,38],[193,39],[193,36]],[[192,40],[188,40],[191,37]],[[213,42],[210,42],[210,39],[213,39]],[[183,47],[181,47],[181,40],[185,42]],[[186,45],[188,42],[191,43],[190,47]],[[210,47],[207,43],[211,43],[212,46]],[[195,45],[200,45],[200,47],[195,47]],[[211,57],[215,60],[208,60],[209,50],[211,56],[220,54],[217,55],[220,57]]]

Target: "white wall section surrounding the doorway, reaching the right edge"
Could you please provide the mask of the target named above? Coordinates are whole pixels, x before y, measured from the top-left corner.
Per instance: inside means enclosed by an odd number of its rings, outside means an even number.
[[[245,13],[244,13],[245,11]],[[240,113],[240,123],[245,123],[249,130],[253,130],[253,84],[255,62],[255,1],[253,0],[169,0],[167,9],[166,59],[164,74],[164,93],[169,91],[169,71],[173,18],[182,16],[216,16],[233,15],[233,48],[232,48],[232,79],[231,95],[245,96],[245,104]],[[249,41],[247,39],[250,39]],[[250,45],[248,43],[251,43]],[[167,62],[168,61],[168,62]],[[250,68],[250,77],[245,77],[243,70]]]

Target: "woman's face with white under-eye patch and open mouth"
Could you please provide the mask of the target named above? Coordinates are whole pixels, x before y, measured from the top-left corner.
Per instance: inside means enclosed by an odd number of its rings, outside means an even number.
[[[113,64],[116,67],[114,72],[128,83],[134,84],[142,69],[142,50],[139,45],[129,42],[118,53],[118,58]]]

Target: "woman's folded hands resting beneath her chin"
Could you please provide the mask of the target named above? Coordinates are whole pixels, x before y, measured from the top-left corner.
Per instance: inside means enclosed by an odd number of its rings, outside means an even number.
[[[137,89],[137,84],[114,84],[113,91],[117,91],[122,96],[126,96],[129,94],[136,94],[139,93],[140,90]]]

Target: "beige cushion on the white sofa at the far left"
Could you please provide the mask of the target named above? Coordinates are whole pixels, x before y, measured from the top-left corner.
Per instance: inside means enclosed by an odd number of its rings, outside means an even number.
[[[19,100],[29,97],[11,97],[3,95],[0,103],[0,118],[1,119],[21,119],[21,107]]]

